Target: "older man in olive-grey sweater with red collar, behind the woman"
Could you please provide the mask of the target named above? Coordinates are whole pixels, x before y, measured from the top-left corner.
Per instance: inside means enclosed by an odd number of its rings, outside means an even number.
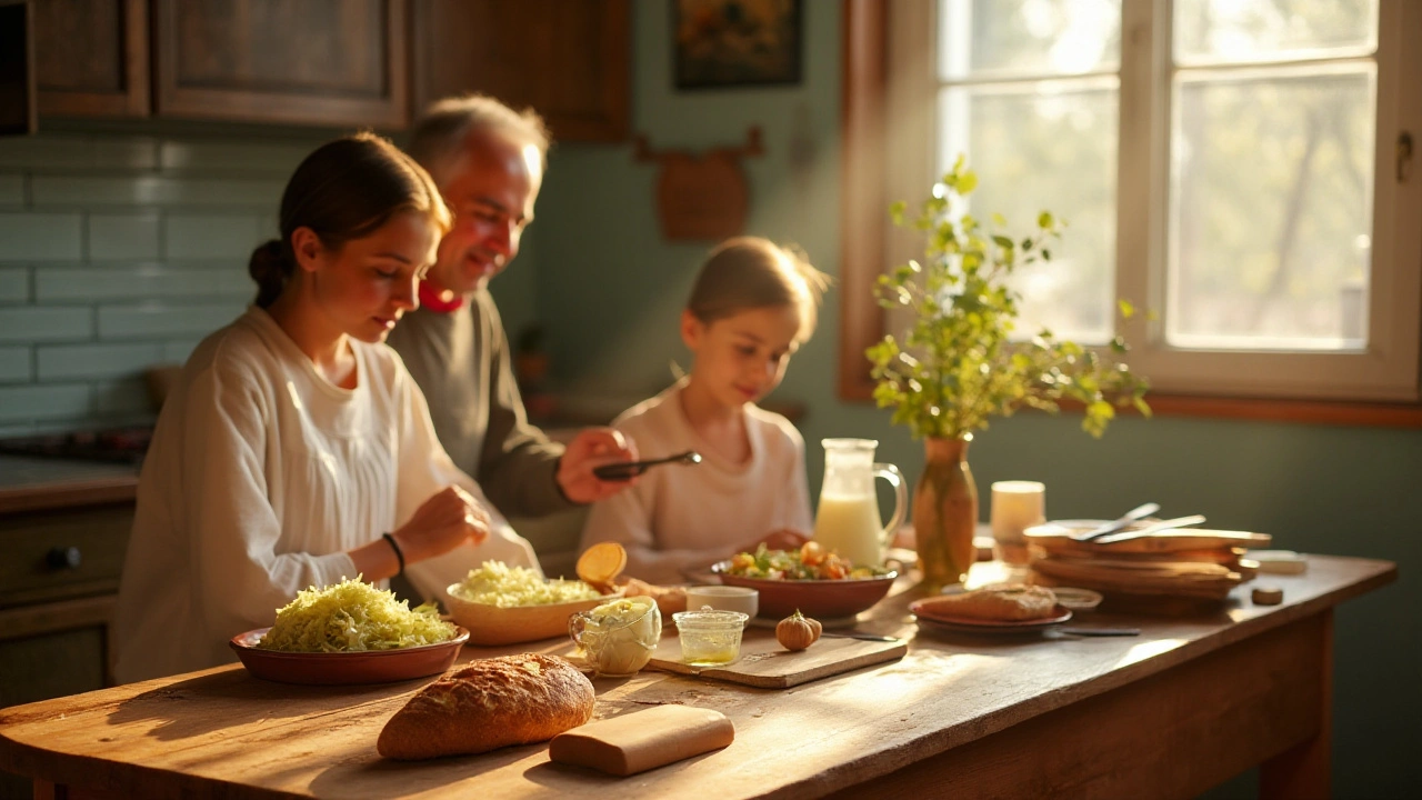
[[[448,98],[417,121],[410,154],[439,186],[454,228],[421,283],[419,309],[390,335],[424,390],[435,433],[505,515],[542,517],[626,488],[593,467],[636,458],[613,428],[580,431],[565,448],[529,424],[513,381],[508,333],[489,279],[519,252],[547,167],[533,111],[489,97]]]

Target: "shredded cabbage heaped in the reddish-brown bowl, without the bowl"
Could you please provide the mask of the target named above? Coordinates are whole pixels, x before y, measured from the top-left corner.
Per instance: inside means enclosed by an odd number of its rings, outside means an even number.
[[[414,609],[394,592],[357,578],[324,589],[311,586],[277,609],[276,623],[257,646],[293,653],[394,651],[448,642],[455,626],[439,619],[439,608]]]

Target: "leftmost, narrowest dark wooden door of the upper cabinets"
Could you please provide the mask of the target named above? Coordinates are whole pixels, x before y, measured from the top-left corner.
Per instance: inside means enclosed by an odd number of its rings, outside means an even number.
[[[34,3],[40,115],[146,117],[145,0]]]

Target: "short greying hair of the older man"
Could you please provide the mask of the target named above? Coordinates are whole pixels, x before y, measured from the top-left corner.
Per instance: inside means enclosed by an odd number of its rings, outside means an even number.
[[[543,118],[532,108],[515,111],[485,94],[447,97],[427,108],[410,132],[410,155],[444,185],[464,157],[464,141],[474,131],[502,131],[538,148],[547,171],[552,138]]]

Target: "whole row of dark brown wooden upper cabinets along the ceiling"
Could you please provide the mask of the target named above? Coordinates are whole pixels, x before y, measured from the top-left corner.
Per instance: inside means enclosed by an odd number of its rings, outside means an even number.
[[[560,141],[630,128],[629,0],[41,0],[38,114],[404,128],[478,91]],[[13,104],[11,104],[13,105]]]

